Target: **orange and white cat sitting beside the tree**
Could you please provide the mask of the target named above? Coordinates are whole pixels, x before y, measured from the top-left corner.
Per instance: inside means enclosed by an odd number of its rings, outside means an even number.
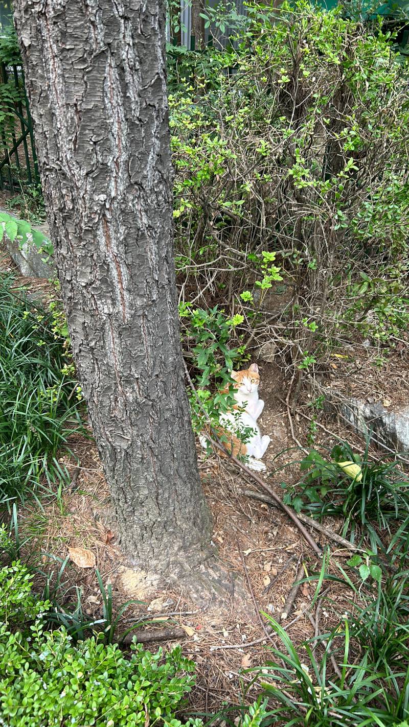
[[[257,419],[264,408],[263,400],[258,398],[258,386],[260,385],[258,366],[257,364],[250,364],[249,368],[243,371],[231,371],[231,378],[234,381],[234,398],[237,401],[237,404],[233,406],[233,410],[236,410],[237,413],[234,414],[234,411],[228,411],[221,415],[220,423],[223,428],[219,432],[223,435],[223,439],[226,436],[229,438],[229,441],[225,443],[227,449],[231,449],[236,456],[237,454],[247,455],[247,467],[261,472],[266,470],[266,465],[260,460],[266,453],[270,438],[267,435],[261,435],[257,424]],[[224,393],[227,391],[229,391],[229,387],[223,389]],[[239,411],[240,409],[241,411]],[[240,441],[237,435],[234,434],[235,430],[244,427],[250,427],[253,430],[246,443]],[[206,435],[202,433],[199,439],[206,449]],[[223,457],[223,453],[219,451],[219,454]],[[224,457],[226,457],[226,454],[224,454]]]

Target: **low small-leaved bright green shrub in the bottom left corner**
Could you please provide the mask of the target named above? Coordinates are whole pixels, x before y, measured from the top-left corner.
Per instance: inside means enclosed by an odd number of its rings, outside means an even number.
[[[179,727],[175,711],[194,683],[194,664],[180,647],[168,654],[132,644],[126,657],[117,645],[96,638],[75,646],[62,628],[31,636],[0,630],[0,712],[9,727]],[[190,722],[187,724],[191,724]],[[198,723],[199,724],[199,723]]]

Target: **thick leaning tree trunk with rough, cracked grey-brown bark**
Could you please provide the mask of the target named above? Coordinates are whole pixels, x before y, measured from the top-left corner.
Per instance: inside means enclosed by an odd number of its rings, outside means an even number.
[[[179,577],[210,515],[183,383],[160,0],[15,0],[79,377],[122,550]]]

